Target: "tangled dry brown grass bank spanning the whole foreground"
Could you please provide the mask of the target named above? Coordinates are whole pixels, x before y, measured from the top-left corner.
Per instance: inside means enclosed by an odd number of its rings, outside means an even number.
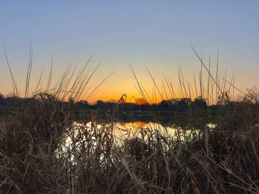
[[[105,119],[92,111],[83,124],[73,123],[85,78],[77,76],[71,89],[61,80],[58,90],[35,92],[1,117],[2,193],[259,193],[256,88],[240,102],[225,99],[229,112],[218,113],[214,128],[190,111],[185,117],[192,122],[171,135],[160,125],[115,127],[124,96]]]

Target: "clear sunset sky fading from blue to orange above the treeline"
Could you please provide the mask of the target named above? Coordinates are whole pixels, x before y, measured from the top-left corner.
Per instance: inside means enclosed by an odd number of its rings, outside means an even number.
[[[70,63],[79,72],[92,57],[86,72],[100,65],[84,96],[108,78],[83,100],[141,98],[130,66],[151,99],[166,98],[165,79],[181,97],[179,69],[192,90],[200,72],[207,87],[208,73],[194,50],[214,78],[218,61],[220,81],[234,75],[236,88],[252,88],[259,81],[258,9],[258,1],[0,1],[0,93],[13,91],[7,57],[20,96],[25,94],[30,45],[31,94],[42,70],[47,85],[52,57],[52,87]]]

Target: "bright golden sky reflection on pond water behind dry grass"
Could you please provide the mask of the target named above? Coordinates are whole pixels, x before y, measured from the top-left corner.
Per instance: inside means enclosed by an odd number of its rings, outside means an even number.
[[[208,123],[207,127],[215,128],[215,125]],[[148,143],[149,140],[154,142],[158,139],[163,146],[169,147],[170,142],[181,142],[197,138],[200,130],[182,129],[179,126],[162,126],[159,123],[152,122],[129,122],[129,123],[79,123],[75,122],[72,128],[66,133],[66,139],[63,141],[61,150],[67,154],[70,161],[75,164],[79,158],[87,154],[94,154],[96,149],[106,145],[123,146],[128,140],[139,138],[141,142]],[[144,144],[145,144],[144,143]],[[169,144],[168,144],[169,143]],[[104,156],[100,156],[104,157]]]

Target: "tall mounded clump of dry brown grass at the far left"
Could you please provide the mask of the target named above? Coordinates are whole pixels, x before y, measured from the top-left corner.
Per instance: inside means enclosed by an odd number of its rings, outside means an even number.
[[[2,118],[1,181],[4,193],[51,191],[55,150],[71,126],[70,104],[40,93]],[[55,177],[57,178],[57,177]]]

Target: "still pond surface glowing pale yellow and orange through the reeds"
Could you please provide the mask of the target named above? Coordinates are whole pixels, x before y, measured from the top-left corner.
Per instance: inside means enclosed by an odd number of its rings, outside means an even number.
[[[93,125],[93,126],[92,126]],[[105,126],[105,128],[104,128]],[[208,123],[208,127],[215,127],[214,124]],[[159,123],[145,123],[145,122],[130,122],[130,123],[106,123],[106,124],[98,124],[98,123],[73,123],[73,133],[67,134],[65,144],[62,146],[63,153],[73,153],[75,151],[79,151],[77,145],[83,143],[84,141],[88,142],[87,144],[91,144],[91,149],[94,150],[103,138],[102,132],[105,129],[108,133],[112,133],[113,142],[122,146],[125,143],[125,140],[130,140],[133,137],[140,138],[144,141],[147,141],[148,138],[157,138],[158,136],[165,137],[167,140],[185,140],[185,138],[193,138],[193,135],[198,134],[200,130],[192,129],[192,130],[183,130],[178,126],[162,126]],[[80,133],[79,133],[80,131]],[[81,136],[80,140],[77,141],[77,135]],[[82,138],[83,136],[83,138]],[[73,139],[73,140],[72,140]],[[78,142],[78,143],[76,143]],[[70,156],[71,161],[74,161],[76,158],[73,154]]]

